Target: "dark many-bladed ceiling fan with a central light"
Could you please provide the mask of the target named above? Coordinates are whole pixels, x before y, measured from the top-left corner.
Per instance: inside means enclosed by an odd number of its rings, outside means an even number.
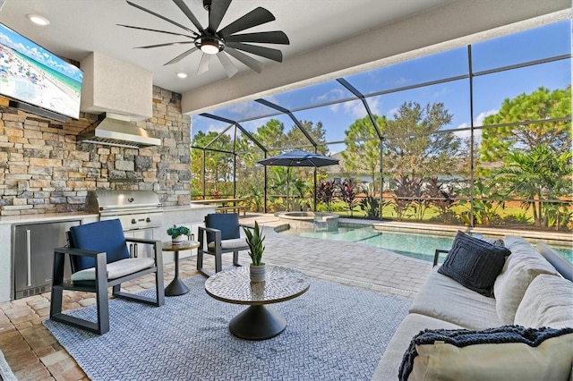
[[[199,50],[203,53],[201,57],[201,63],[199,63],[198,74],[206,72],[209,70],[209,64],[211,57],[217,55],[218,60],[225,68],[227,76],[230,78],[238,72],[235,64],[231,62],[227,55],[235,57],[236,60],[244,63],[246,66],[251,68],[255,72],[262,71],[262,63],[252,58],[250,55],[245,55],[242,51],[251,53],[252,55],[260,55],[261,57],[269,58],[270,60],[282,62],[283,55],[278,49],[273,49],[270,47],[261,47],[258,45],[245,44],[245,42],[251,43],[261,43],[261,44],[284,44],[288,45],[290,41],[288,37],[282,30],[264,31],[256,33],[243,33],[235,34],[237,32],[248,30],[257,25],[267,23],[269,21],[274,21],[275,16],[268,10],[262,7],[253,9],[251,12],[244,14],[244,16],[238,18],[237,20],[228,24],[225,28],[218,30],[218,26],[223,20],[225,13],[227,13],[227,8],[231,4],[232,0],[203,0],[203,8],[209,13],[209,25],[207,28],[203,28],[201,23],[193,15],[189,7],[184,3],[184,0],[173,0],[175,5],[184,13],[185,16],[192,22],[194,27],[198,30],[191,30],[184,25],[168,19],[161,14],[155,13],[142,7],[141,5],[134,4],[129,0],[126,0],[127,4],[140,9],[143,12],[150,13],[159,19],[165,20],[174,24],[175,26],[185,30],[190,34],[175,33],[167,30],[152,30],[149,28],[136,27],[132,25],[117,24],[125,28],[132,28],[135,30],[149,30],[159,33],[166,33],[169,35],[180,36],[185,39],[184,41],[169,42],[166,44],[150,45],[146,47],[136,47],[140,49],[150,49],[154,47],[169,47],[176,45],[192,44],[192,48],[185,51],[184,53],[177,55],[171,61],[164,64],[164,66],[172,63],[178,63],[184,59],[187,55],[191,55],[193,52]]]

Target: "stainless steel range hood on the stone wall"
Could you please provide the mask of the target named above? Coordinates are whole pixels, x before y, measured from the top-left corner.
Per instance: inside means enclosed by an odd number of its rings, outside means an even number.
[[[93,123],[82,131],[78,140],[126,148],[161,145],[160,139],[150,136],[148,131],[131,122],[129,116],[107,113],[100,115],[99,120],[100,122]]]

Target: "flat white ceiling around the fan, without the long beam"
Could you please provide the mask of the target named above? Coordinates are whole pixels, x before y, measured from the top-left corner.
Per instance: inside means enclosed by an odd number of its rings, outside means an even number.
[[[290,45],[269,47],[278,47],[286,62],[295,55],[304,55],[312,49],[328,46],[382,24],[452,1],[235,0],[230,4],[220,25],[224,27],[258,6],[267,8],[277,20],[245,32],[283,30],[290,39]],[[133,0],[133,3],[195,30],[191,21],[170,0]],[[202,0],[185,0],[185,3],[201,24],[206,25],[208,13],[202,7]],[[31,23],[26,17],[30,13],[47,18],[50,24],[40,27]],[[133,47],[180,41],[184,38],[127,29],[116,24],[174,32],[183,30],[134,8],[124,0],[5,0],[0,11],[0,21],[56,55],[81,61],[90,52],[98,52],[141,66],[153,73],[154,85],[178,93],[183,94],[227,78],[218,60],[211,61],[208,72],[197,75],[201,52],[193,52],[179,63],[164,66],[164,63],[189,49],[188,45],[134,49]],[[253,57],[265,65],[280,64],[258,56]],[[232,61],[239,73],[250,72],[243,63],[234,58]],[[177,78],[177,72],[187,72],[188,77],[181,80]]]

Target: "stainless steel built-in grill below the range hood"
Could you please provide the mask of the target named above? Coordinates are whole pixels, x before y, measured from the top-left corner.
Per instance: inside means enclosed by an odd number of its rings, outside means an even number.
[[[163,206],[152,190],[91,190],[86,211],[98,213],[100,221],[118,218],[126,237],[153,239],[153,229],[163,225]],[[129,250],[138,257],[146,248],[131,244]]]

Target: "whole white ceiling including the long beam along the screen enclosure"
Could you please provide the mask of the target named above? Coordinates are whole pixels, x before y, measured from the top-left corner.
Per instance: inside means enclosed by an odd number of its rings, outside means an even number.
[[[173,0],[131,1],[194,30]],[[206,25],[208,13],[202,0],[184,2]],[[184,114],[200,114],[515,32],[525,28],[524,22],[532,28],[556,13],[558,20],[571,17],[570,0],[235,0],[219,30],[258,6],[277,20],[244,33],[283,30],[290,45],[267,45],[282,51],[282,63],[252,55],[264,63],[260,74],[231,58],[239,72],[230,79],[218,60],[211,60],[209,71],[197,75],[202,55],[198,51],[179,63],[164,65],[189,45],[135,49],[181,38],[118,23],[183,30],[125,0],[0,0],[0,22],[56,55],[81,62],[97,52],[138,65],[152,72],[154,85],[182,94]],[[26,17],[30,13],[47,18],[50,24],[31,23]],[[177,72],[187,72],[188,77],[179,79]]]

